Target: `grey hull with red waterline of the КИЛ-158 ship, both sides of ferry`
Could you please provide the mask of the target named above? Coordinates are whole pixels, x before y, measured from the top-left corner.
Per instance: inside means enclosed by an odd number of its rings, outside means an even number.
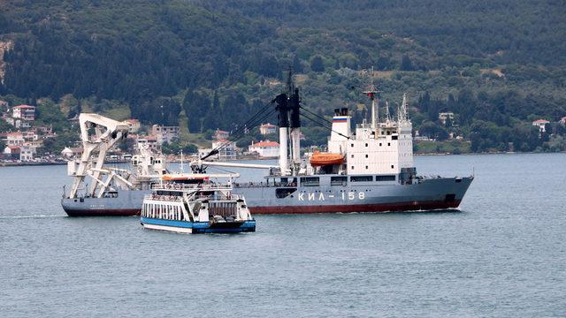
[[[472,177],[431,178],[402,185],[398,182],[352,186],[251,186],[238,185],[252,214],[383,213],[454,210],[460,206]],[[295,189],[278,198],[277,189]],[[138,216],[147,190],[121,191],[117,198],[63,199],[69,216]]]

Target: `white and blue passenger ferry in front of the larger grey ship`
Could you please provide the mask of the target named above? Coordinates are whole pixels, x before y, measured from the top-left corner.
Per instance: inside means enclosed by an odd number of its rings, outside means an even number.
[[[246,200],[241,194],[232,193],[232,181],[210,180],[226,177],[233,175],[164,176],[162,180],[169,181],[153,185],[153,192],[143,198],[142,226],[193,234],[256,231],[256,220],[249,213]]]

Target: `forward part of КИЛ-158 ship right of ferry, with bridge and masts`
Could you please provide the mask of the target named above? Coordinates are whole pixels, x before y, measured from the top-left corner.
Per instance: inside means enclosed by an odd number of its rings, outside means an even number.
[[[234,185],[234,193],[246,198],[251,213],[427,211],[459,207],[474,177],[417,175],[406,95],[397,117],[389,115],[387,105],[385,116],[380,118],[377,91],[372,83],[363,93],[371,99],[371,122],[356,125],[353,133],[348,109],[334,110],[327,152],[308,153],[302,158],[300,118],[302,110],[308,110],[301,105],[299,90],[290,80],[287,82],[287,93],[272,101],[279,115],[279,166],[264,166],[270,172],[263,180]],[[310,115],[316,116],[311,112]],[[195,170],[222,165],[202,160],[192,164]]]

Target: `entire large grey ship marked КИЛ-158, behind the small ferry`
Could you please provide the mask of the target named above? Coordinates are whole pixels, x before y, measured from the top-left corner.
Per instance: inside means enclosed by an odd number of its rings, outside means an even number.
[[[233,180],[233,193],[246,198],[252,214],[429,211],[459,207],[474,177],[417,175],[406,96],[396,117],[389,115],[388,105],[385,116],[379,117],[377,92],[370,85],[364,92],[371,99],[370,122],[356,125],[353,132],[348,109],[334,110],[332,123],[328,123],[332,128],[327,151],[301,156],[301,118],[313,119],[317,114],[302,107],[299,90],[291,79],[289,74],[287,92],[266,105],[279,117],[277,165],[206,160],[226,147],[226,143],[191,162],[192,173],[170,174],[164,169],[163,159],[148,153],[134,156],[137,173],[103,168],[104,155],[101,154],[116,140],[125,138],[128,127],[126,123],[93,114],[81,115],[85,152],[80,161],[69,163],[69,175],[75,182],[72,191],[62,200],[65,212],[69,216],[137,215],[142,208],[143,195],[150,193],[152,183],[163,179],[180,183],[207,182],[206,178],[195,176],[202,176],[210,166],[267,171],[264,178],[254,182]],[[310,115],[302,114],[302,110]],[[260,110],[255,117],[264,118],[268,113]],[[318,119],[318,123],[325,120],[324,117]],[[252,124],[259,122],[249,121],[247,128]],[[96,134],[88,136],[86,132],[92,131],[93,126]],[[104,132],[98,130],[101,126],[105,127]],[[86,176],[94,182],[84,195],[79,195]]]

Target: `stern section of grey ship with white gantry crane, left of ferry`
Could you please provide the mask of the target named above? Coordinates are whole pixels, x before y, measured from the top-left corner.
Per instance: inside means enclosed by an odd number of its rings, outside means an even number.
[[[80,114],[79,124],[83,152],[67,163],[73,186],[64,193],[63,209],[69,216],[139,215],[143,195],[167,172],[164,157],[138,146],[131,159],[133,170],[105,165],[108,151],[126,139],[130,124],[88,113]]]

